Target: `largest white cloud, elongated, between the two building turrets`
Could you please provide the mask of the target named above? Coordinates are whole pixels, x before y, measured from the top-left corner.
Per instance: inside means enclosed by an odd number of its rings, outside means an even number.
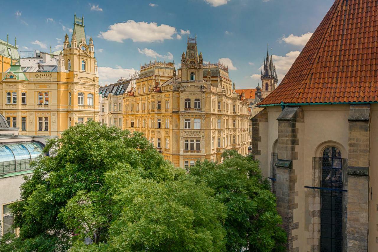
[[[125,39],[132,39],[133,42],[163,42],[165,39],[172,39],[175,33],[176,28],[169,25],[127,20],[110,25],[108,30],[101,31],[98,37],[120,43]]]

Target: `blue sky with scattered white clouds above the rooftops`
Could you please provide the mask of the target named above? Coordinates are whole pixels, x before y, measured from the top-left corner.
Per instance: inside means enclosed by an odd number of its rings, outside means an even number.
[[[180,62],[186,37],[197,35],[204,61],[222,59],[237,88],[254,88],[266,44],[279,79],[302,50],[333,0],[25,1],[3,3],[0,39],[19,51],[61,48],[71,38],[73,15],[84,15],[92,36],[100,82],[108,84],[155,60]],[[8,6],[7,6],[8,5]],[[6,24],[6,25],[4,25]],[[138,49],[139,48],[139,49]],[[270,49],[269,49],[270,51]]]

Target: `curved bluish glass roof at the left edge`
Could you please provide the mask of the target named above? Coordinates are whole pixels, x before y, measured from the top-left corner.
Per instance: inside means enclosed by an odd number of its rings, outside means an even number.
[[[0,174],[29,170],[29,163],[42,154],[35,142],[0,144]]]

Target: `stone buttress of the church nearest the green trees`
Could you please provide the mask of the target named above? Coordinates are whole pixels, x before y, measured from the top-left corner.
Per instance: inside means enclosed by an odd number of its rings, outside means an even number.
[[[298,159],[296,145],[299,145],[297,123],[304,122],[304,113],[301,107],[285,107],[277,118],[278,120],[278,159],[276,166],[276,197],[277,211],[282,216],[283,229],[288,234],[288,251],[299,251],[293,248],[293,241],[297,236],[292,236],[292,230],[299,227],[299,222],[294,222],[294,209],[298,208],[295,197],[297,175],[293,169],[293,160]]]

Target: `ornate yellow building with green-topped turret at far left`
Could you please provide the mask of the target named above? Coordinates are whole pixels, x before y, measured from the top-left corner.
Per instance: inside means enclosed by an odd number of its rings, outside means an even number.
[[[63,51],[22,58],[0,73],[0,111],[20,135],[60,135],[74,123],[98,120],[98,76],[84,17],[74,16]],[[16,49],[17,50],[17,49]]]

